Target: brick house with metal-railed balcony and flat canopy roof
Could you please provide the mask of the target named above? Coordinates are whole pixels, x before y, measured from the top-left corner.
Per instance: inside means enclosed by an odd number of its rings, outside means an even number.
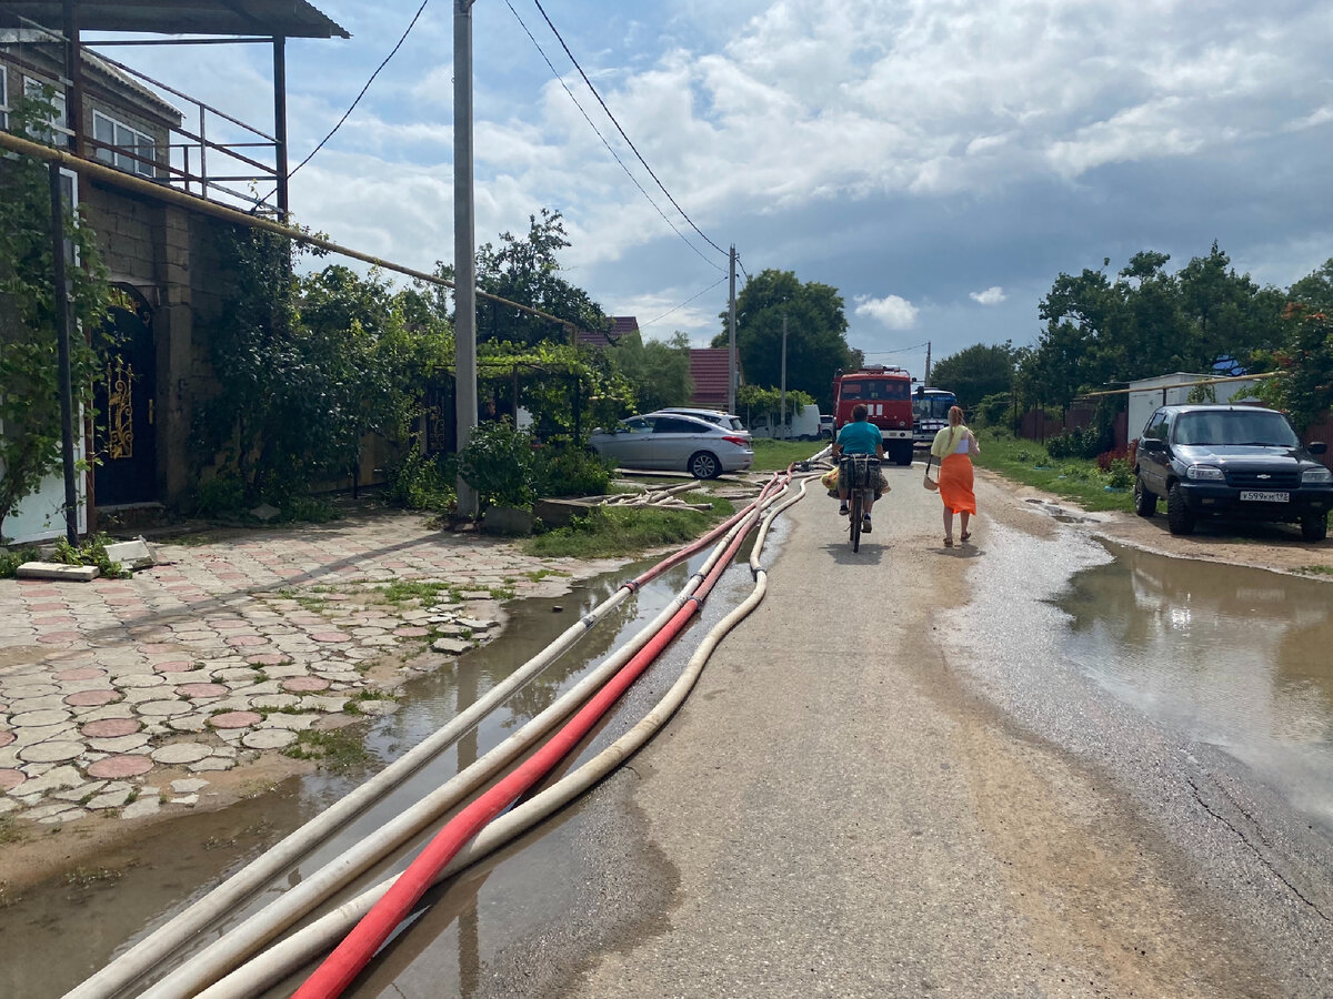
[[[71,13],[73,23],[65,20]],[[136,79],[129,67],[84,48],[80,31],[267,35],[272,36],[275,79],[285,81],[287,37],[349,37],[343,28],[305,0],[248,0],[244,5],[225,0],[188,5],[19,0],[0,8],[0,127],[8,129],[17,93],[48,87],[56,95],[55,144],[75,156],[201,201],[285,214],[285,83],[275,87],[271,136],[165,84]],[[229,131],[240,125],[263,140],[235,145],[211,140],[209,116],[215,133],[223,131],[216,127],[223,116]],[[213,386],[208,345],[196,322],[225,308],[211,274],[217,241],[232,229],[209,214],[153,197],[143,184],[135,188],[76,170],[61,173],[67,196],[97,233],[115,296],[108,328],[116,348],[105,357],[104,385],[95,401],[97,426],[87,424],[76,441],[79,457],[91,453],[99,460],[79,477],[79,529],[84,531],[96,530],[99,510],[173,506],[195,486],[187,450],[193,405]],[[276,212],[228,186],[247,181],[276,185]],[[7,519],[5,533],[16,541],[63,533],[63,503],[57,472]]]

